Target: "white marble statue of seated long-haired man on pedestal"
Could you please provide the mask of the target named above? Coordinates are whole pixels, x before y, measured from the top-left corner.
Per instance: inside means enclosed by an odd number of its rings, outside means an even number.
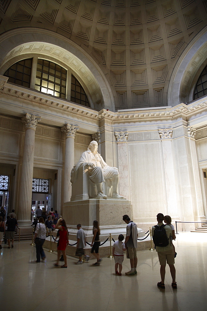
[[[88,169],[88,178],[97,187],[96,197],[106,199],[107,196],[103,193],[102,183],[111,183],[112,198],[123,198],[118,194],[119,171],[116,167],[111,167],[104,162],[102,156],[97,152],[98,143],[96,141],[90,142],[87,151],[84,151],[71,171],[71,183],[76,181],[77,171],[80,166]]]

